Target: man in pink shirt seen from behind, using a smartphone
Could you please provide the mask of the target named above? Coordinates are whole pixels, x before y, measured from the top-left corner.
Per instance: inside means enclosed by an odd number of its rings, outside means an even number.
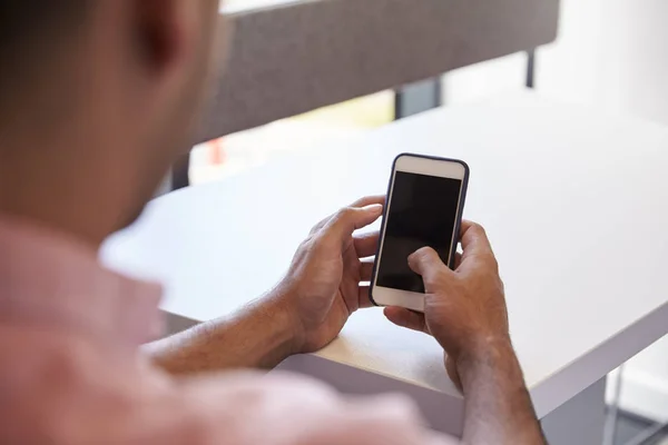
[[[439,443],[401,396],[347,399],[303,377],[234,372],[317,350],[369,306],[360,258],[377,234],[354,231],[380,217],[382,197],[316,225],[285,278],[236,316],[139,347],[158,333],[159,287],[104,269],[96,251],[188,148],[210,55],[223,51],[212,48],[217,10],[217,0],[0,3],[0,443]],[[480,226],[461,236],[456,271],[429,247],[407,258],[425,314],[385,315],[448,353],[465,443],[541,444],[497,261]]]

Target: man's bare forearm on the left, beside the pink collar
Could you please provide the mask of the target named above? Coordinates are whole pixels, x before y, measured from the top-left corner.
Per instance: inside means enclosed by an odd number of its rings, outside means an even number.
[[[170,374],[234,368],[269,369],[295,350],[294,329],[279,298],[269,295],[236,314],[204,323],[146,346]]]

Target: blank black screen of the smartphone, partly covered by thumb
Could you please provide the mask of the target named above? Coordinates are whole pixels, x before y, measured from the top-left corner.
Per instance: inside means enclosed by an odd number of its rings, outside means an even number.
[[[377,286],[424,294],[422,278],[407,258],[428,246],[448,264],[461,188],[459,179],[395,172]]]

